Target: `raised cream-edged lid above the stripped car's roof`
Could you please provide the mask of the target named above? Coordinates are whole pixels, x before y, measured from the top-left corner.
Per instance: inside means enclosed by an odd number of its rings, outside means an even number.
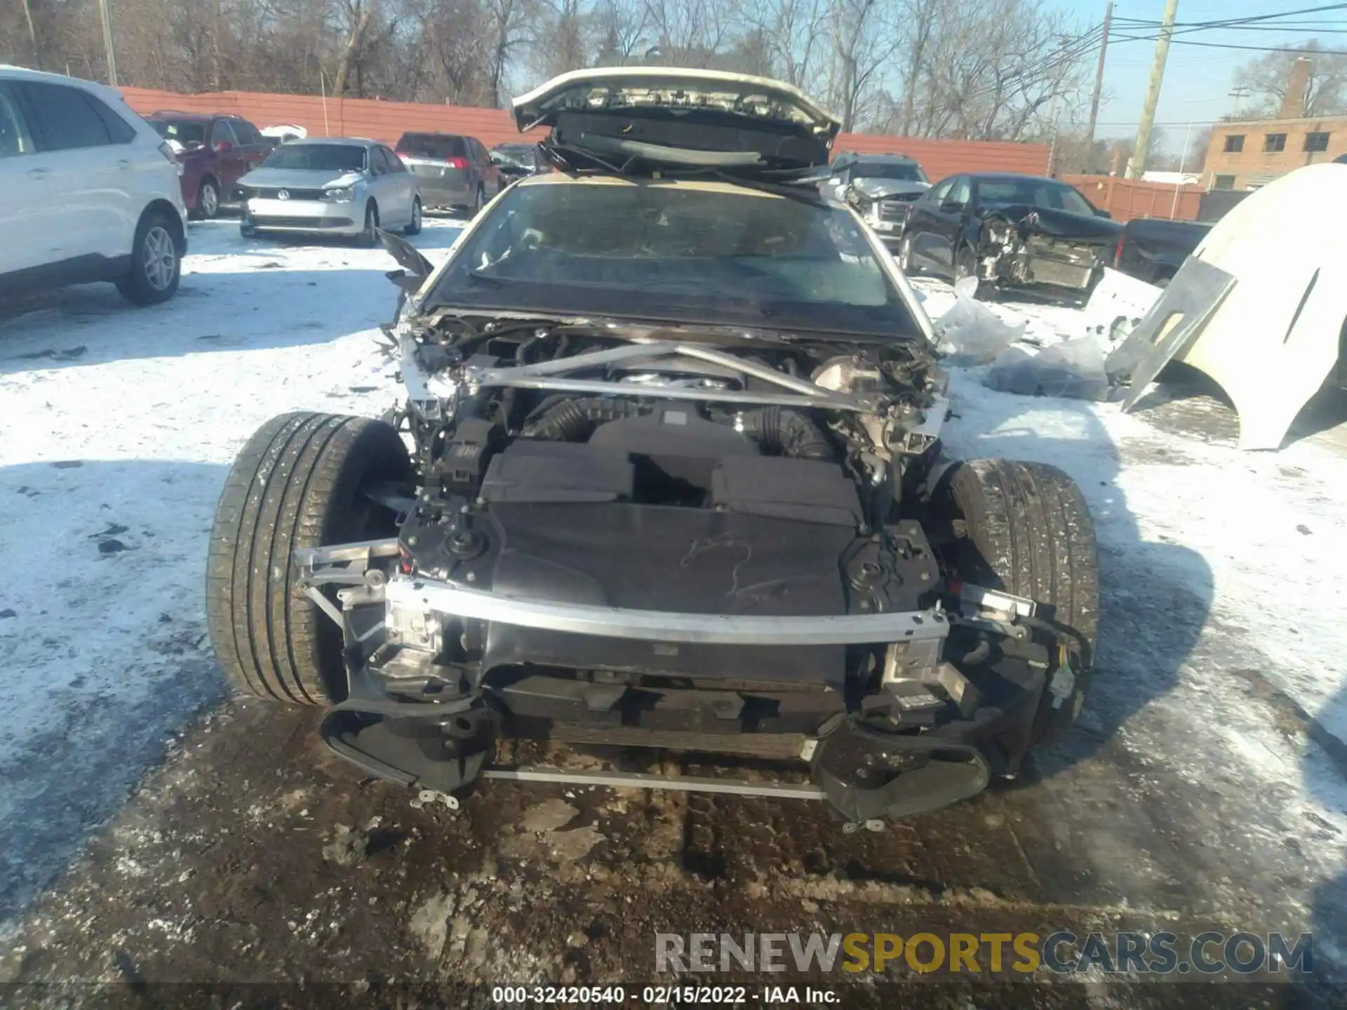
[[[574,70],[513,108],[520,131],[595,158],[727,170],[827,164],[842,125],[781,81],[679,67]]]

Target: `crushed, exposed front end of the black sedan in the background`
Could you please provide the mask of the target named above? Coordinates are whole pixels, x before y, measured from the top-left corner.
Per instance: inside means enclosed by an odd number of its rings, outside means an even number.
[[[982,214],[978,276],[997,287],[1087,296],[1111,261],[1122,226],[1064,210],[1010,206]]]

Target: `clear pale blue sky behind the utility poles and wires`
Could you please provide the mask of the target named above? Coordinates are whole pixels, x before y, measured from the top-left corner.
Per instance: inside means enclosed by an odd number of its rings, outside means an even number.
[[[1300,11],[1320,7],[1332,0],[1179,0],[1177,22],[1207,22],[1228,18],[1249,18],[1278,11]],[[1105,0],[1059,0],[1082,26],[1099,24],[1103,20]],[[1158,22],[1164,15],[1164,0],[1115,0],[1114,18],[1136,18]],[[1335,27],[1347,30],[1347,11],[1328,11],[1317,15],[1289,18],[1290,22],[1313,20],[1334,22]],[[1123,30],[1114,24],[1113,39],[1105,63],[1105,102],[1099,108],[1099,128],[1096,136],[1115,137],[1134,135],[1141,106],[1146,98],[1146,82],[1150,77],[1150,62],[1154,58],[1154,42],[1122,42],[1118,34]],[[1125,32],[1149,34],[1150,32]],[[1315,35],[1307,32],[1280,31],[1237,31],[1219,30],[1176,35],[1169,46],[1165,63],[1164,86],[1160,92],[1160,106],[1156,123],[1165,129],[1165,148],[1179,152],[1183,147],[1184,131],[1189,120],[1193,132],[1212,120],[1228,114],[1235,105],[1230,97],[1235,67],[1263,55],[1243,50],[1206,48],[1202,46],[1179,44],[1187,38],[1196,42],[1219,42],[1241,46],[1280,46],[1286,42],[1307,42]],[[1347,35],[1319,35],[1324,48],[1347,50]],[[1088,62],[1094,66],[1096,54]]]

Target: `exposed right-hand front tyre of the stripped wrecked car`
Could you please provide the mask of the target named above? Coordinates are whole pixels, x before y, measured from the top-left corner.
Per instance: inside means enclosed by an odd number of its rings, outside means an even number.
[[[1057,630],[1075,684],[1064,699],[1044,692],[1032,742],[1060,737],[1090,685],[1099,629],[1099,558],[1084,496],[1055,466],[968,459],[944,473],[932,509],[938,528],[948,525],[946,562],[959,579],[1032,599]]]

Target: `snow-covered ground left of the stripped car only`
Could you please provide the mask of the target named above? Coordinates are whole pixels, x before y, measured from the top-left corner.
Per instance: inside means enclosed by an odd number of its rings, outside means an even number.
[[[461,224],[426,225],[414,241],[443,256]],[[0,921],[221,695],[205,551],[244,442],[396,397],[373,342],[385,252],[245,242],[232,221],[189,241],[167,304],[89,285],[0,315]]]

